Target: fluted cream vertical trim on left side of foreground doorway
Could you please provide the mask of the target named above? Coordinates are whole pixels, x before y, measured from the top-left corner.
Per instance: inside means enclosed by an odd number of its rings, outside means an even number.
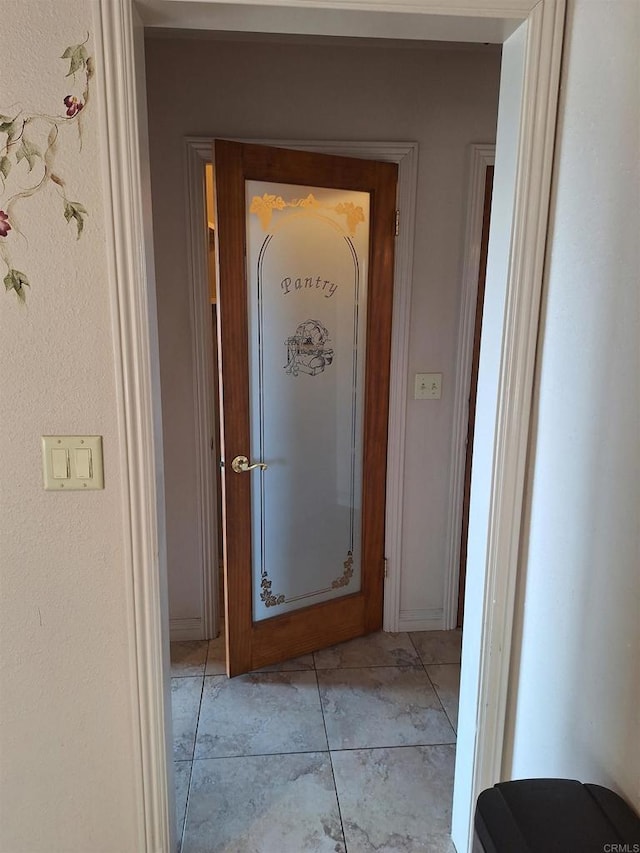
[[[153,240],[145,217],[148,155],[141,27],[131,0],[98,0],[96,85],[103,129],[105,251],[118,395],[123,579],[130,641],[136,849],[173,847],[166,549]],[[143,68],[144,66],[142,66]],[[147,227],[148,226],[148,227]],[[114,820],[117,816],[114,815]]]

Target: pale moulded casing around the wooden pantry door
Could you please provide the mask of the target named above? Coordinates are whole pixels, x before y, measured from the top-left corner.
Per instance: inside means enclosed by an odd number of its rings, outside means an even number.
[[[187,200],[187,287],[191,317],[192,353],[194,364],[194,419],[196,422],[195,453],[199,470],[198,490],[198,553],[201,554],[202,607],[201,623],[194,625],[193,636],[173,633],[172,639],[206,639],[217,636],[221,603],[218,600],[218,571],[215,560],[217,518],[215,514],[215,461],[211,455],[210,413],[217,408],[214,377],[211,370],[213,339],[206,319],[211,310],[207,276],[204,169],[211,163],[213,136],[185,138],[185,196]],[[387,452],[387,512],[385,524],[385,553],[388,571],[384,588],[385,631],[401,630],[400,576],[402,559],[402,509],[405,447],[407,383],[405,377],[409,360],[409,319],[415,232],[415,205],[418,178],[417,142],[345,142],[342,140],[297,139],[237,139],[257,145],[278,148],[297,148],[320,154],[381,160],[398,165],[397,204],[402,225],[396,239],[394,267],[394,307],[391,333],[391,391],[389,396],[389,442]],[[208,631],[209,633],[205,633]]]

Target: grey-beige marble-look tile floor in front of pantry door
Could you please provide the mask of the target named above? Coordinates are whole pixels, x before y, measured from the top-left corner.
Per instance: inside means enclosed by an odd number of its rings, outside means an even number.
[[[182,853],[454,853],[460,632],[373,634],[227,679],[171,644]]]

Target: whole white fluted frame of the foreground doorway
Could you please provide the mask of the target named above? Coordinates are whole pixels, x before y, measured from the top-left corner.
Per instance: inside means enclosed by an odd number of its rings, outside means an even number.
[[[224,5],[224,4],[223,4]],[[324,19],[346,11],[365,24],[404,15],[415,24],[413,37],[496,41],[522,32],[517,52],[522,85],[517,118],[513,205],[505,256],[504,334],[499,351],[495,396],[494,445],[488,494],[478,506],[486,553],[476,554],[482,601],[478,619],[465,632],[465,648],[474,644],[473,672],[465,664],[463,686],[473,689],[472,707],[464,708],[465,746],[458,765],[468,763],[465,778],[454,784],[454,840],[460,851],[472,840],[473,808],[479,791],[502,777],[503,747],[515,606],[515,583],[522,526],[525,466],[536,341],[549,220],[551,174],[557,116],[566,0],[262,0],[255,6],[227,4],[240,14],[256,9],[287,13],[289,27],[323,32]],[[140,802],[137,830],[145,851],[174,848],[175,814],[170,748],[171,705],[168,666],[168,608],[165,520],[162,482],[162,427],[158,374],[153,236],[149,192],[148,130],[144,74],[143,20],[171,26],[214,29],[216,2],[189,4],[169,0],[97,0],[95,50],[96,101],[102,123],[101,156],[105,193],[105,252],[112,283],[113,344],[118,390],[119,444],[123,448],[122,511],[126,537],[124,560],[129,602],[127,620],[134,638],[131,651],[131,739],[134,744]],[[187,20],[190,13],[199,19]],[[155,16],[155,18],[154,18]],[[282,14],[271,16],[282,20]],[[265,15],[262,15],[262,20]],[[421,23],[421,26],[418,24]],[[238,27],[237,20],[235,23]],[[247,29],[253,28],[255,23]],[[267,24],[264,25],[267,28]],[[320,29],[319,29],[320,28]],[[517,29],[516,29],[517,28]],[[258,27],[261,29],[261,27]],[[287,31],[286,29],[283,31]],[[340,30],[338,30],[340,32]],[[502,33],[500,36],[499,34]],[[369,33],[371,34],[371,33]],[[515,49],[515,48],[514,48]],[[503,105],[502,100],[499,104]],[[510,125],[511,126],[511,125]],[[498,152],[498,155],[500,152]],[[499,159],[499,158],[498,158]],[[496,169],[498,162],[496,163]],[[502,286],[502,285],[501,285]],[[482,373],[482,363],[481,363]],[[472,495],[473,503],[473,495]],[[467,620],[468,624],[468,620]],[[471,696],[469,695],[471,700]],[[460,738],[462,739],[462,738]],[[464,752],[464,756],[462,753]],[[468,772],[467,772],[468,771]]]

